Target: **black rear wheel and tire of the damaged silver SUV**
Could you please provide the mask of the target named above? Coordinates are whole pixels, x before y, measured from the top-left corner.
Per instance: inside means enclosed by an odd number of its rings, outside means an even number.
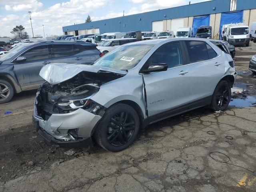
[[[231,99],[231,87],[230,84],[222,80],[216,86],[212,95],[211,108],[214,111],[224,111],[228,107]]]

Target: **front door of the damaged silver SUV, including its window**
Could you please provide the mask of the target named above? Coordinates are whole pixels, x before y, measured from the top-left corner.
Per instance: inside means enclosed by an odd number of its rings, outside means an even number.
[[[156,115],[159,120],[188,109],[189,78],[183,55],[182,44],[171,42],[158,48],[146,62],[168,65],[167,71],[143,75],[149,117]]]

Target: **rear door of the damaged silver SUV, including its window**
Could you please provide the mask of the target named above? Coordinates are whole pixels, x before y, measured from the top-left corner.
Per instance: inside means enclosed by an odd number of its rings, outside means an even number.
[[[190,108],[208,105],[216,85],[224,75],[224,61],[204,41],[187,40],[184,46],[189,63]]]

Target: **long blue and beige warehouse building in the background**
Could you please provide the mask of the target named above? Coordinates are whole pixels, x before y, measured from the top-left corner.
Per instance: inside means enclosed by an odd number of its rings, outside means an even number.
[[[104,32],[167,31],[179,27],[212,26],[217,38],[223,24],[256,22],[256,0],[211,0],[129,16],[62,27],[64,34],[102,34]]]

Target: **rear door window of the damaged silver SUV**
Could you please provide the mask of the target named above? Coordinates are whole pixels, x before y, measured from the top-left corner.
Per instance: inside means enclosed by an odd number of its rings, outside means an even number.
[[[205,42],[185,41],[190,63],[208,60],[208,51]]]

